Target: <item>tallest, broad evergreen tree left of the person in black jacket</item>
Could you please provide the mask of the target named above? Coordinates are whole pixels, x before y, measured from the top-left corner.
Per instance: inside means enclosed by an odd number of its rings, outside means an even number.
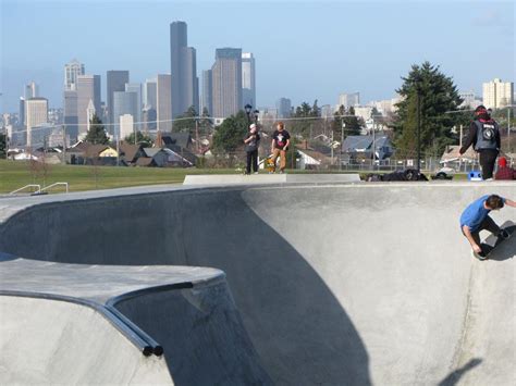
[[[417,110],[418,95],[420,104],[420,147],[421,153],[441,154],[447,145],[457,142],[452,128],[459,122],[456,114],[462,99],[451,77],[429,62],[414,64],[402,87],[396,90],[402,101],[394,123],[394,144],[402,157],[415,157],[417,153]]]

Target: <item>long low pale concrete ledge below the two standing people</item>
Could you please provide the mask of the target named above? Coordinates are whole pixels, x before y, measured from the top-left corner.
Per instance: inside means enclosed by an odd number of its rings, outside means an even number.
[[[187,175],[183,185],[263,185],[358,183],[358,174],[204,174]]]

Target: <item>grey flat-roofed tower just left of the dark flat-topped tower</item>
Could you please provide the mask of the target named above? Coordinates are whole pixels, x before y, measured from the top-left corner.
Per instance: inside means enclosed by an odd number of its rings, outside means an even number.
[[[95,113],[100,114],[100,75],[77,76],[77,122],[78,135],[88,130],[88,105],[94,103]]]

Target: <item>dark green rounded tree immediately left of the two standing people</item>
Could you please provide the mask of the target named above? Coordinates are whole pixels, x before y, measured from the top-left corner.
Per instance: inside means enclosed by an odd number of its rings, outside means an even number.
[[[243,146],[247,133],[247,115],[243,110],[231,115],[216,128],[213,135],[213,150],[217,152],[234,152]]]

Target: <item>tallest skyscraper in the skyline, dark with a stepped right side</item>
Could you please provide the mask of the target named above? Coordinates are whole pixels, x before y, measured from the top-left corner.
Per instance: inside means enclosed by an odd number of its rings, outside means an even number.
[[[172,116],[183,114],[189,107],[199,109],[199,86],[195,48],[187,47],[185,22],[170,24],[170,73]]]

